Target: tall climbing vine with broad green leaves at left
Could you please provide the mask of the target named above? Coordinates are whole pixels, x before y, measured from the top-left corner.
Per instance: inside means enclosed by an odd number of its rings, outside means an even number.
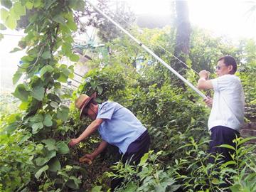
[[[48,191],[48,188],[60,191],[67,187],[78,188],[80,180],[72,174],[75,168],[62,166],[67,159],[65,154],[70,149],[65,137],[60,134],[60,129],[68,119],[69,108],[62,104],[61,95],[58,94],[61,83],[73,78],[73,66],[60,64],[58,60],[63,56],[73,62],[79,60],[79,56],[72,52],[73,32],[77,30],[73,11],[82,11],[85,1],[6,0],[1,1],[1,5],[1,29],[16,28],[18,19],[25,16],[26,11],[33,9],[24,31],[26,36],[13,50],[26,49],[26,55],[21,58],[22,64],[18,66],[13,78],[15,84],[22,75],[26,76],[26,82],[18,84],[13,93],[21,100],[21,112],[13,114],[6,121],[4,129],[9,135],[15,130],[22,133],[22,139],[16,138],[16,151],[23,150],[26,153],[24,159],[30,169],[26,173],[31,173],[32,176],[14,174],[16,166],[19,166],[16,164],[1,171],[1,179],[10,181],[3,182],[4,186],[1,187],[7,191],[28,188],[31,191]],[[1,166],[7,166],[7,162],[2,164]],[[46,171],[48,174],[44,174]],[[15,184],[11,183],[14,176],[17,180]]]

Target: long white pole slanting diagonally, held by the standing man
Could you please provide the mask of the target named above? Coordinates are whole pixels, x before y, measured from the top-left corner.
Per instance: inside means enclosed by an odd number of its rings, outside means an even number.
[[[150,50],[149,48],[147,48],[146,46],[144,46],[144,44],[142,44],[142,42],[138,41],[137,38],[134,38],[134,36],[132,36],[128,31],[126,31],[124,28],[122,28],[122,26],[119,26],[118,23],[116,23],[115,21],[112,20],[112,18],[110,18],[109,16],[107,16],[105,13],[103,13],[100,9],[97,8],[97,6],[95,6],[94,4],[92,4],[90,1],[86,0],[86,2],[88,4],[90,4],[97,12],[99,12],[100,14],[102,14],[102,16],[104,16],[105,18],[107,18],[108,20],[110,20],[115,26],[117,26],[121,31],[123,31],[125,34],[127,34],[127,36],[129,36],[130,38],[132,38],[136,43],[139,44],[139,46],[141,46],[142,48],[144,48],[144,50],[146,50],[149,54],[151,54],[154,58],[156,58],[156,60],[158,60],[161,64],[163,64],[166,68],[168,68],[169,70],[171,70],[172,73],[174,73],[178,78],[180,78],[183,82],[185,82],[189,87],[191,87],[194,91],[196,91],[198,93],[198,95],[200,95],[201,97],[203,97],[203,99],[206,99],[206,95],[203,95],[203,92],[201,92],[200,90],[198,90],[195,86],[193,86],[191,84],[191,82],[188,82],[188,80],[186,80],[185,78],[183,78],[182,75],[180,75],[178,72],[176,72],[176,70],[174,70],[173,68],[171,68],[170,65],[168,65],[167,63],[164,62],[164,60],[162,60],[161,58],[159,58],[159,56],[157,56],[152,50]]]

